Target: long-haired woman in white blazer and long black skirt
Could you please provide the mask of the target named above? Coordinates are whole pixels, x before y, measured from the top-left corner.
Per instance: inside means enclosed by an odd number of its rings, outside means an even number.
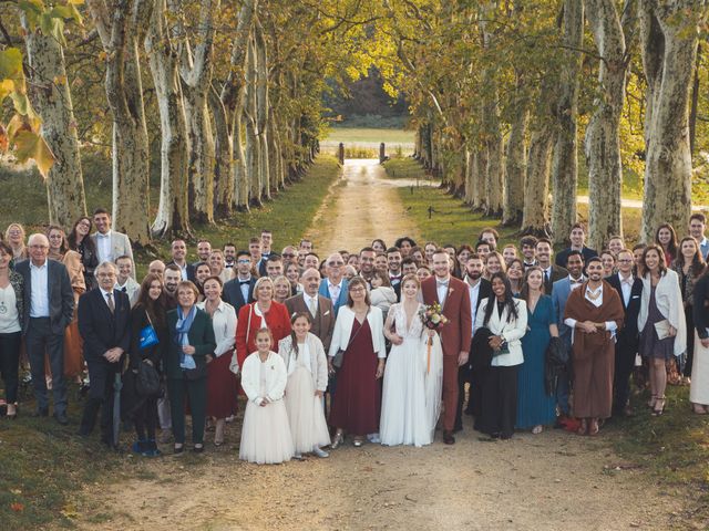
[[[481,302],[475,330],[487,327],[493,358],[482,383],[482,415],[477,427],[493,438],[508,439],[517,417],[517,369],[524,362],[522,337],[527,331],[527,306],[514,299],[503,272],[491,278],[493,296]]]

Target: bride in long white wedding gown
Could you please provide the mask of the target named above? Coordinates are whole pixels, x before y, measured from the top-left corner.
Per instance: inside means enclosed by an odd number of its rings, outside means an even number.
[[[408,274],[401,284],[402,302],[391,306],[384,324],[392,347],[384,371],[380,438],[387,446],[423,446],[433,441],[441,413],[443,351],[438,333],[425,329],[419,315],[419,279]]]

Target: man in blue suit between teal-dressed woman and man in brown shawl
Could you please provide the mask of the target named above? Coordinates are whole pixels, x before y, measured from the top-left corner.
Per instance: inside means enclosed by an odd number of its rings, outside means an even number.
[[[584,278],[584,257],[580,251],[572,250],[568,252],[566,268],[568,277],[554,282],[552,289],[552,303],[554,304],[554,316],[558,326],[558,335],[566,345],[567,352],[572,350],[572,329],[564,323],[564,310],[566,301],[572,290],[579,288],[586,280]],[[571,392],[571,381],[568,372],[561,374],[556,384],[556,403],[562,416],[571,415],[571,406],[568,404],[568,395]]]

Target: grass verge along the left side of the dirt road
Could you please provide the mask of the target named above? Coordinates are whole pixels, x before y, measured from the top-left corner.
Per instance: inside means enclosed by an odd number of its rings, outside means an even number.
[[[224,225],[196,226],[195,233],[208,238],[215,246],[234,241],[245,247],[249,237],[269,228],[276,239],[275,249],[297,243],[340,174],[335,158],[321,156],[301,181],[278,192],[263,208],[250,214],[239,212]],[[43,205],[40,199],[44,200]],[[16,209],[14,212],[22,211],[19,219],[28,226],[39,225],[47,212],[45,200],[45,195],[38,195],[32,198],[32,208]],[[6,212],[6,209],[0,208],[0,212]],[[0,223],[2,220],[0,218]],[[161,256],[167,257],[169,242],[155,243]],[[144,271],[146,259],[146,256],[137,258],[140,271]],[[25,389],[25,397],[28,393]],[[16,421],[0,417],[0,529],[72,528],[80,507],[79,490],[83,486],[105,481],[106,476],[119,478],[146,473],[141,460],[130,455],[104,451],[96,442],[97,435],[92,437],[92,441],[84,441],[75,435],[83,407],[83,403],[75,399],[75,394],[76,388],[72,386],[69,427],[60,426],[52,418],[30,417],[29,412],[33,409],[30,399],[21,402]],[[130,437],[124,437],[127,439]],[[119,508],[93,508],[97,519],[94,523],[110,520],[115,510]]]

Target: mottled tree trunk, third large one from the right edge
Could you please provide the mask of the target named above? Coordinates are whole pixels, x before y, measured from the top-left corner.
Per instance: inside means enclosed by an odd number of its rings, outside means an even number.
[[[554,108],[556,119],[554,155],[552,162],[552,235],[561,243],[576,222],[576,187],[578,181],[578,82],[584,38],[584,3],[580,0],[564,2],[563,65],[558,97]]]

